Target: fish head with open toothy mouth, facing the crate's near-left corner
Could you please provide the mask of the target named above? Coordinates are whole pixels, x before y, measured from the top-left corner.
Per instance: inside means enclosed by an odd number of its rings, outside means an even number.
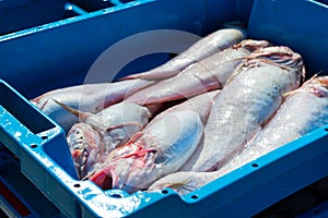
[[[97,131],[86,123],[75,123],[67,135],[67,142],[75,165],[77,172],[83,178],[101,161],[103,142]]]

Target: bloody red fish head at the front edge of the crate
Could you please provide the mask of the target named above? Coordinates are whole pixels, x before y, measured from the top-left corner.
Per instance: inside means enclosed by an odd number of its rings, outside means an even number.
[[[120,189],[128,193],[148,189],[162,173],[161,166],[165,158],[155,149],[145,149],[136,144],[127,150],[113,150],[119,155],[112,154],[107,165],[96,170],[90,180],[102,189]]]

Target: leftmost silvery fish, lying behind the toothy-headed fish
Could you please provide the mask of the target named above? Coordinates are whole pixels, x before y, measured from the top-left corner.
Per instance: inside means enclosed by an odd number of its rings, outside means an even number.
[[[81,111],[96,113],[113,104],[121,101],[130,92],[134,93],[152,83],[150,81],[133,80],[117,83],[84,84],[50,90],[31,101],[68,132],[78,122],[78,118],[65,110],[55,100]]]

